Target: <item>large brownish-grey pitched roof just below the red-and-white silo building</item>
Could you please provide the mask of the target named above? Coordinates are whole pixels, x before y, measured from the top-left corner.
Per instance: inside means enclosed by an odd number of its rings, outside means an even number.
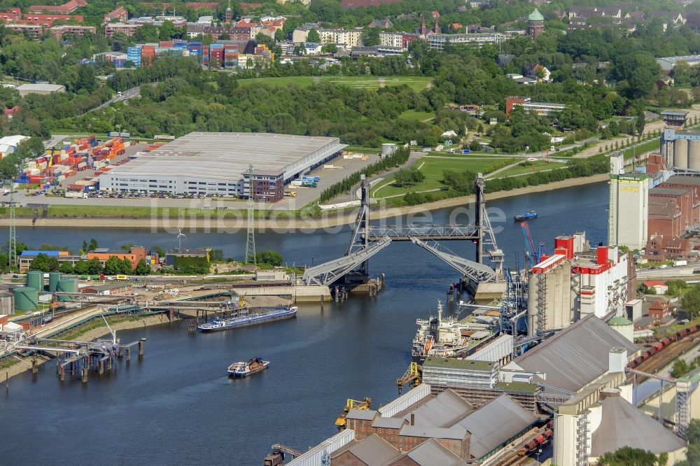
[[[549,385],[577,392],[608,372],[608,353],[617,347],[626,348],[628,356],[638,351],[635,344],[591,314],[514,362],[526,372],[544,372]]]

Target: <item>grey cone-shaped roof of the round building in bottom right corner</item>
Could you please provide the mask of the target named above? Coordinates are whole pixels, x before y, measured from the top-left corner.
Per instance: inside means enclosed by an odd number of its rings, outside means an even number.
[[[682,449],[685,440],[676,437],[640,409],[617,395],[601,400],[601,423],[593,432],[591,456],[616,451],[623,446],[652,453],[667,453]]]

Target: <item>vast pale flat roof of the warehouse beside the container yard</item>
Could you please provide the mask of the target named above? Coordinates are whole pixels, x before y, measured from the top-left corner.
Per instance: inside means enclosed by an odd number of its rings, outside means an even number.
[[[311,155],[346,146],[338,138],[267,133],[193,132],[109,172],[112,176],[190,176],[239,180],[248,166],[258,173],[286,173]]]

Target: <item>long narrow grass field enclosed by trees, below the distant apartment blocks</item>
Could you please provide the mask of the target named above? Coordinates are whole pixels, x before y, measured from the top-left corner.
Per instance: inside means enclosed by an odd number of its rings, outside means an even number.
[[[333,83],[357,89],[379,89],[382,85],[395,86],[405,84],[411,87],[412,90],[419,91],[425,89],[431,80],[432,78],[422,76],[390,76],[388,78],[377,78],[377,76],[285,76],[282,78],[239,79],[238,83],[241,86],[264,83],[278,87],[286,87],[292,84],[307,87],[314,83]]]

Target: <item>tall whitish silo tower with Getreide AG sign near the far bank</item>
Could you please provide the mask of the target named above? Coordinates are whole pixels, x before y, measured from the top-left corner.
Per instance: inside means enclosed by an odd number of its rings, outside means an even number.
[[[622,154],[610,157],[608,244],[641,249],[647,243],[649,176],[625,173]]]

